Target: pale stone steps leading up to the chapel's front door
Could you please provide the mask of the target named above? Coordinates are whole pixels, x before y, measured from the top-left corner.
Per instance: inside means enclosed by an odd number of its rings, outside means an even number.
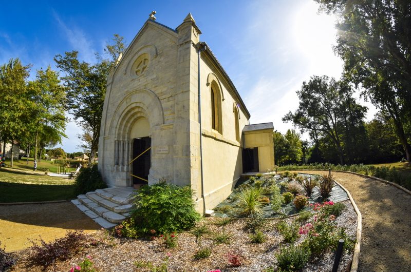
[[[129,217],[133,194],[132,187],[98,189],[71,202],[102,227],[111,228]]]

